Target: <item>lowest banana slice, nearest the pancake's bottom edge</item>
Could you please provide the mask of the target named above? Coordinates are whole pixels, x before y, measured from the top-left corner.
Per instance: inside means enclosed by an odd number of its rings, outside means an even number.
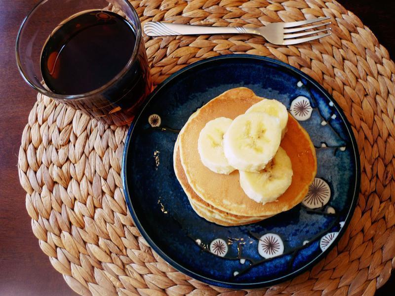
[[[292,183],[292,163],[285,150],[278,148],[275,157],[259,173],[240,171],[240,186],[245,194],[260,203],[275,201]]]

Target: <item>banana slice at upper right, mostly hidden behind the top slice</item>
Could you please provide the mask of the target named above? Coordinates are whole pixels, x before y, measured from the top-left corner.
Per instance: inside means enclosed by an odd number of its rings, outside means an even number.
[[[286,107],[277,100],[263,99],[261,102],[252,105],[245,113],[250,112],[264,112],[269,115],[275,116],[280,120],[281,139],[287,131],[288,111]]]

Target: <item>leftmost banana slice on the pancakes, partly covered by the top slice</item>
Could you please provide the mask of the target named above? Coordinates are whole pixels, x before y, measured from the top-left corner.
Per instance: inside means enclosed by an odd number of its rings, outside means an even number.
[[[230,174],[235,168],[231,166],[224,154],[223,139],[232,119],[218,117],[206,123],[197,140],[201,162],[211,171]]]

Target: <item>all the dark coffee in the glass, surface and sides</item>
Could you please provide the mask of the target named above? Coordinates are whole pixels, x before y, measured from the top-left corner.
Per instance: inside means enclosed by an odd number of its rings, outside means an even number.
[[[72,103],[76,109],[121,125],[132,120],[152,91],[144,45],[136,41],[133,27],[123,17],[90,10],[63,22],[42,49],[41,74],[54,93],[84,94],[120,74],[136,46],[136,57],[125,74],[102,92]]]

